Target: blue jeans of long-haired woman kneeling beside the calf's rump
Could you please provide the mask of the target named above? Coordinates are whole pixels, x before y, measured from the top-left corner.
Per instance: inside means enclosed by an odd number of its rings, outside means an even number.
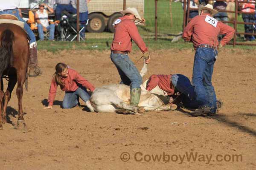
[[[79,102],[79,97],[86,102],[90,99],[90,95],[88,94],[86,88],[79,87],[76,91],[73,92],[66,92],[63,102],[62,102],[62,108],[69,109],[76,106]]]

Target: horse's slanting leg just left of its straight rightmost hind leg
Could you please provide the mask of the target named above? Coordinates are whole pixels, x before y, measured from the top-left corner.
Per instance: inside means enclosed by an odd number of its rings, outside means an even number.
[[[6,92],[4,94],[4,104],[3,104],[3,123],[6,122],[6,109],[7,109],[7,104],[11,99],[11,95],[12,95],[12,91],[16,85],[17,82],[17,76],[10,76],[9,75],[9,83],[8,83],[8,87],[6,89]]]

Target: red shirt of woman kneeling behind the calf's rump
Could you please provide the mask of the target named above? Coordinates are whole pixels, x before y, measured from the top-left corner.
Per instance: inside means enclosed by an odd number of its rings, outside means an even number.
[[[90,82],[84,79],[84,77],[81,77],[81,75],[77,71],[71,68],[68,68],[67,77],[64,77],[64,78],[61,77],[61,82],[64,83],[64,88],[61,88],[62,91],[76,91],[79,88],[76,82],[81,84],[83,87],[88,88],[90,91],[94,91],[95,89]],[[56,96],[57,86],[58,85],[55,82],[55,79],[52,79],[51,87],[49,90],[49,99],[48,99],[49,106],[53,105],[53,101]]]

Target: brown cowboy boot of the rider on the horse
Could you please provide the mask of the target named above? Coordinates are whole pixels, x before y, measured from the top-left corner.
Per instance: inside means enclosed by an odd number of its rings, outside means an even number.
[[[42,75],[41,69],[38,67],[37,44],[32,43],[29,47],[29,77]]]

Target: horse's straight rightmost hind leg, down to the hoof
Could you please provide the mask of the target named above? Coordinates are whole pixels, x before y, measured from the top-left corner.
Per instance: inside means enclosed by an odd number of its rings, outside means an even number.
[[[26,123],[23,118],[23,109],[22,109],[23,84],[25,80],[26,80],[26,69],[17,70],[16,95],[17,95],[18,104],[19,104],[17,127],[19,127],[20,124],[23,124],[23,128],[26,127]]]

